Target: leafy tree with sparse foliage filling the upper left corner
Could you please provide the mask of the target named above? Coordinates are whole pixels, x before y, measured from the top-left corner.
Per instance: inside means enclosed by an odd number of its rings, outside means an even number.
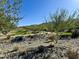
[[[19,15],[21,4],[22,0],[0,1],[0,31],[3,34],[17,26],[18,21],[21,19]]]

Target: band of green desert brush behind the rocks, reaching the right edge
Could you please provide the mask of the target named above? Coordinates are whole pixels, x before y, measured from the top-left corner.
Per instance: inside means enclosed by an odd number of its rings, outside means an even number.
[[[70,13],[66,9],[59,9],[54,14],[50,14],[45,22],[38,25],[24,27],[27,31],[65,31],[69,29],[79,28],[79,10]],[[71,35],[71,33],[59,33],[62,35]]]

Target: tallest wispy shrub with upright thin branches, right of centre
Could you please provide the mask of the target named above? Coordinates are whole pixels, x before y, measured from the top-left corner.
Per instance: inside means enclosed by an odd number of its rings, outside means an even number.
[[[58,31],[64,27],[61,24],[63,24],[63,22],[66,20],[66,18],[67,18],[67,10],[65,10],[65,9],[57,10],[54,13],[54,15],[50,15],[50,20],[53,24],[55,31]]]

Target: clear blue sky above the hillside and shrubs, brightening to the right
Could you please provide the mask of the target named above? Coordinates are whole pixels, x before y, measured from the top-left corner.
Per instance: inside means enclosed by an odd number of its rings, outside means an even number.
[[[23,0],[21,15],[24,18],[19,26],[42,23],[49,13],[54,13],[58,8],[73,11],[79,8],[79,0]]]

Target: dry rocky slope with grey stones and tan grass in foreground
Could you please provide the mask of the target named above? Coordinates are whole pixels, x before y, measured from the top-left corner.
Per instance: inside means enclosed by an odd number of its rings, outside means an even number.
[[[44,35],[17,37],[0,43],[0,59],[79,59],[79,39],[50,45]]]

